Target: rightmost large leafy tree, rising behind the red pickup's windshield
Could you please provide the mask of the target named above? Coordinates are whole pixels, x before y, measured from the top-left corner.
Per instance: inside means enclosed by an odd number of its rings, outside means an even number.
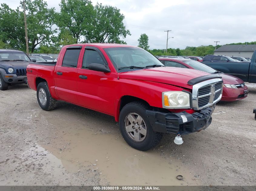
[[[85,34],[85,42],[126,44],[120,37],[125,38],[131,33],[125,28],[125,16],[120,13],[120,9],[97,3],[94,16],[93,28]]]

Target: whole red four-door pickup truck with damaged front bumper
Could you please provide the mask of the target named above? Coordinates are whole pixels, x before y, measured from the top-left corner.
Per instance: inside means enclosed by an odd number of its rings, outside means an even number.
[[[207,128],[223,81],[217,74],[165,67],[146,50],[91,43],[64,46],[54,63],[30,63],[28,85],[43,110],[56,100],[114,116],[125,141],[141,151],[163,133]]]

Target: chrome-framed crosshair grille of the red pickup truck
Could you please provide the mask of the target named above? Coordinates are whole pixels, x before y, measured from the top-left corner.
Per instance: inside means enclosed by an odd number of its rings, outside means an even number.
[[[218,102],[222,96],[223,81],[220,78],[210,79],[193,86],[192,102],[195,110],[201,110]]]

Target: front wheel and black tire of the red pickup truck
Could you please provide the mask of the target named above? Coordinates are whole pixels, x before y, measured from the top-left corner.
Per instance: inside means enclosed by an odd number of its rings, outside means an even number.
[[[163,133],[154,132],[146,115],[149,108],[141,102],[126,104],[119,116],[119,126],[125,141],[133,148],[147,151],[156,146]]]

